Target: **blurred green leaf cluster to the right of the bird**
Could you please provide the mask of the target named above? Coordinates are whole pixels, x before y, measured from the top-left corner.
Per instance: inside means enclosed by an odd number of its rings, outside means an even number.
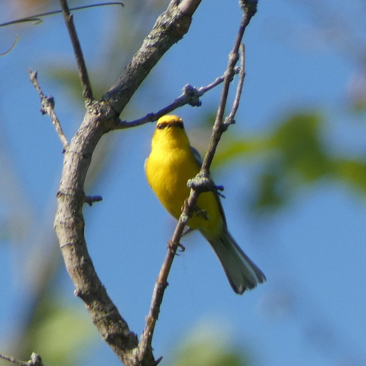
[[[366,159],[333,154],[324,140],[325,122],[316,111],[295,112],[269,134],[252,138],[231,134],[217,152],[213,168],[253,160],[264,167],[251,202],[256,212],[279,209],[296,190],[319,179],[343,182],[366,196]]]

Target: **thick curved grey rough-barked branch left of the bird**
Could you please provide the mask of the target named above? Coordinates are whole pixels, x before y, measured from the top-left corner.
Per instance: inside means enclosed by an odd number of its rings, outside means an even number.
[[[66,1],[62,1],[67,9]],[[127,366],[156,365],[151,343],[141,353],[137,336],[130,331],[101,284],[86,247],[84,236],[83,204],[86,201],[84,183],[94,148],[102,135],[119,123],[118,116],[146,75],[164,53],[188,31],[191,16],[199,1],[192,2],[192,11],[181,12],[178,1],[171,1],[167,11],[161,14],[140,50],[132,58],[115,85],[105,94],[103,101],[92,100],[87,87],[87,74],[83,74],[86,114],[83,122],[71,139],[64,155],[63,171],[57,192],[58,206],[55,230],[66,269],[75,285],[75,295],[85,303],[102,338],[109,344],[119,359]],[[67,10],[65,10],[67,12]],[[71,19],[66,16],[70,25]],[[70,31],[72,43],[76,34]],[[75,46],[74,46],[75,47]],[[78,53],[78,51],[76,52]],[[78,67],[80,57],[78,57]],[[80,71],[80,67],[79,67]],[[90,99],[88,101],[88,98]]]

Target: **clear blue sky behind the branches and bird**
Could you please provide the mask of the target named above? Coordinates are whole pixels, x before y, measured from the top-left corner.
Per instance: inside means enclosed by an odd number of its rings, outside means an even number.
[[[346,33],[348,29],[362,40],[365,28],[360,19],[364,19],[365,5],[359,1],[351,7],[333,1],[314,10],[311,4],[315,2],[259,1],[258,13],[244,36],[246,78],[237,123],[231,131],[243,136],[260,134],[271,131],[283,115],[297,108],[321,109],[328,121],[326,143],[336,152],[364,158],[365,115],[347,112],[350,80],[362,71],[361,61],[356,52],[343,53],[336,42],[321,35],[329,38],[333,34],[339,39],[330,27],[333,23],[327,21],[341,19],[346,26],[336,23],[336,30]],[[93,71],[102,67],[104,42],[112,33],[110,19],[129,6],[126,1],[123,10],[75,14],[86,62]],[[0,22],[13,16],[10,11],[1,12]],[[144,19],[141,16],[137,24]],[[148,85],[134,96],[129,117],[163,108],[187,83],[207,85],[222,75],[239,22],[236,1],[202,1],[189,33],[168,51],[149,75]],[[1,169],[10,188],[16,187],[9,191],[17,193],[12,198],[2,188],[0,217],[14,214],[35,227],[31,237],[19,233],[17,244],[0,242],[5,294],[0,299],[1,344],[17,324],[12,316],[21,300],[19,290],[29,284],[31,271],[25,264],[37,253],[35,243],[44,238],[44,232],[52,242],[62,166],[61,143],[49,118],[39,113],[28,67],[38,70],[44,92],[55,97],[56,112],[68,138],[81,122],[83,110],[47,75],[53,64],[74,63],[61,17],[48,18],[37,27],[22,25],[0,31],[1,49],[12,43],[14,33],[20,35],[15,49],[0,59],[1,155],[11,163],[11,167],[1,163]],[[340,44],[344,46],[347,40]],[[360,42],[360,53],[362,46]],[[123,67],[107,71],[111,81]],[[203,96],[201,108],[176,111],[185,120],[188,134],[217,106],[219,96],[217,88]],[[103,201],[84,210],[88,249],[97,273],[130,329],[138,334],[175,225],[143,172],[153,129],[151,124],[103,137],[114,143],[112,160],[93,191],[87,192],[102,195]],[[205,240],[199,234],[184,239],[187,250],[173,264],[153,340],[155,356],[166,356],[163,363],[167,364],[176,342],[207,329],[226,335],[250,352],[253,365],[364,365],[365,200],[340,182],[322,180],[299,190],[285,207],[259,220],[239,204],[243,192],[253,192],[254,175],[255,167],[242,161],[214,172],[216,183],[225,187],[229,230],[268,281],[243,296],[235,295]],[[3,179],[1,182],[5,184]],[[53,253],[48,248],[41,252]],[[57,283],[65,301],[85,311],[81,301],[74,299],[65,271]],[[86,362],[97,365],[102,358],[117,364],[101,340],[97,338],[93,347]]]

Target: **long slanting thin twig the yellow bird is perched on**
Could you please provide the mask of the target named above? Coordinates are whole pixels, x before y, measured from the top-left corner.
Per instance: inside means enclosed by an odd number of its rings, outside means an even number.
[[[251,2],[251,3],[253,3],[253,2]],[[216,120],[215,120],[215,123],[213,126],[209,149],[203,160],[203,165],[202,165],[201,171],[198,173],[198,175],[193,180],[188,181],[190,183],[196,181],[198,184],[192,185],[193,188],[191,188],[190,195],[187,198],[187,200],[184,202],[183,211],[179,217],[179,220],[175,227],[173,236],[169,240],[167,255],[165,256],[163,265],[160,269],[160,273],[159,273],[158,279],[157,279],[155,287],[154,287],[154,292],[153,292],[153,297],[152,297],[152,301],[151,301],[151,305],[150,305],[149,314],[146,317],[146,326],[142,333],[141,340],[139,343],[139,350],[140,350],[141,355],[143,355],[143,352],[146,349],[151,347],[154,328],[156,325],[158,314],[160,312],[160,306],[163,301],[164,291],[168,285],[167,279],[168,279],[169,271],[171,269],[176,251],[178,249],[179,240],[183,234],[184,227],[186,226],[189,218],[192,216],[192,214],[195,210],[198,195],[201,193],[201,191],[206,190],[202,186],[201,178],[202,177],[208,178],[209,167],[210,167],[213,155],[216,151],[217,143],[220,140],[221,134],[227,128],[226,126],[224,126],[224,123],[223,123],[223,114],[224,114],[225,105],[227,103],[229,85],[234,76],[234,67],[235,67],[236,62],[239,59],[238,50],[239,50],[239,46],[241,44],[241,40],[243,38],[244,30],[246,29],[247,25],[249,24],[249,21],[252,18],[252,16],[255,14],[255,6],[253,6],[253,4],[251,4],[251,5],[252,5],[251,7],[242,6],[243,18],[240,23],[238,35],[236,36],[236,40],[235,40],[233,49],[229,54],[228,66],[227,66],[227,69],[224,74],[223,91],[221,93],[220,104],[219,104],[219,108],[217,110]]]

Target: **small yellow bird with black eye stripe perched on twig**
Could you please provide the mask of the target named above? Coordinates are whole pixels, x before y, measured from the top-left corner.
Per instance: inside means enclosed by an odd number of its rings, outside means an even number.
[[[190,194],[187,181],[197,175],[201,165],[202,157],[190,145],[183,120],[176,115],[160,117],[152,137],[150,155],[145,160],[145,174],[161,204],[177,220]],[[199,230],[209,242],[234,292],[241,295],[266,281],[264,273],[229,233],[217,191],[199,194],[196,206],[187,226],[190,231]]]

